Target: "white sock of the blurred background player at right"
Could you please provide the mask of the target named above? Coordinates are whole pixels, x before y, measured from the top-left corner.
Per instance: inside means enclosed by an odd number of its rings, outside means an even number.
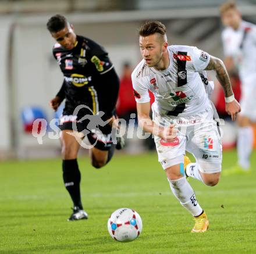
[[[253,151],[253,129],[251,127],[240,127],[237,137],[238,163],[244,169],[250,167],[250,155]]]

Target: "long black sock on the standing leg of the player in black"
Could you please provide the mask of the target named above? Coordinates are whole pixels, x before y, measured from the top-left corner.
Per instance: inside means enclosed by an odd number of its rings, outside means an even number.
[[[77,160],[62,160],[63,181],[69,195],[72,198],[74,206],[83,209],[80,195],[81,174],[77,164]]]

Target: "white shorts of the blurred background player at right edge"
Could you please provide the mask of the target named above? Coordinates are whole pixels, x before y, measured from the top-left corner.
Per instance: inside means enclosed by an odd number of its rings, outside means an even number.
[[[241,115],[247,116],[251,121],[256,121],[256,76],[244,78],[241,85]]]

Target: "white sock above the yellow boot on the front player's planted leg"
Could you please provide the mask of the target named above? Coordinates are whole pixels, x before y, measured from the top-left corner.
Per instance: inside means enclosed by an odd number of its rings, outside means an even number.
[[[195,192],[187,182],[186,177],[179,178],[178,180],[169,180],[170,189],[176,198],[180,201],[193,216],[198,216],[202,213],[202,208],[195,198]]]

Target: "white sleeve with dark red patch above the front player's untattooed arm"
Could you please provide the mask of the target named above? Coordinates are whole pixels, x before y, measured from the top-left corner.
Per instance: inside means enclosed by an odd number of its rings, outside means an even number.
[[[131,74],[131,80],[133,82],[133,93],[135,101],[138,103],[150,102],[150,94],[146,85],[140,83],[138,78]]]

